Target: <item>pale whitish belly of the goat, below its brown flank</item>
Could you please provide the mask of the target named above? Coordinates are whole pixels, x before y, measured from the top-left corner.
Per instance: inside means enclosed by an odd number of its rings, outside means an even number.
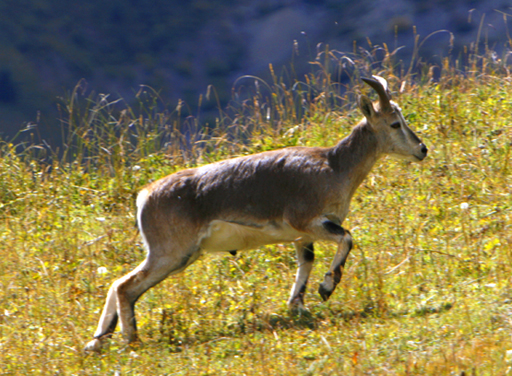
[[[239,251],[267,244],[289,243],[303,235],[285,222],[252,225],[214,220],[199,246],[206,252]]]

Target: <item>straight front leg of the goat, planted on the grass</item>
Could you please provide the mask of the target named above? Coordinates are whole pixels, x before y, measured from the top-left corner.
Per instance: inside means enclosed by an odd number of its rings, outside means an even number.
[[[295,250],[297,252],[297,275],[293,284],[290,299],[288,299],[288,307],[291,310],[304,310],[304,294],[308,283],[309,274],[313,269],[313,261],[315,253],[313,243],[311,242],[295,242]]]

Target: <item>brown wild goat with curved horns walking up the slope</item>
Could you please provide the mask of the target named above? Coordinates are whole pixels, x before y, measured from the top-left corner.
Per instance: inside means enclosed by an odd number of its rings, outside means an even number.
[[[146,186],[137,198],[137,222],[147,258],[110,287],[86,350],[99,350],[118,318],[124,338],[136,341],[137,299],[206,252],[294,243],[299,267],[288,305],[302,309],[313,242],[334,241],[338,250],[319,287],[327,300],[352,247],[350,233],[341,224],[357,187],[384,155],[410,161],[427,155],[427,147],[391,101],[386,80],[373,76],[363,81],[375,89],[379,101],[359,97],[364,118],[334,147],[290,147],[229,159]]]

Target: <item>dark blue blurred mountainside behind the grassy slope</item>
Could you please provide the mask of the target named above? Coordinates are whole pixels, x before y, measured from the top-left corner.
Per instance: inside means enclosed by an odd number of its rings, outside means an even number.
[[[0,137],[37,123],[41,137],[58,142],[59,97],[84,79],[89,92],[134,100],[140,85],[166,105],[190,108],[208,85],[226,104],[237,77],[268,78],[290,63],[306,72],[318,43],[353,51],[405,46],[413,27],[426,60],[457,56],[477,41],[508,58],[510,0],[2,0],[0,2]],[[482,28],[480,29],[481,21]],[[483,51],[483,48],[482,48]],[[295,51],[297,52],[297,51]],[[216,101],[203,104],[205,113]]]

